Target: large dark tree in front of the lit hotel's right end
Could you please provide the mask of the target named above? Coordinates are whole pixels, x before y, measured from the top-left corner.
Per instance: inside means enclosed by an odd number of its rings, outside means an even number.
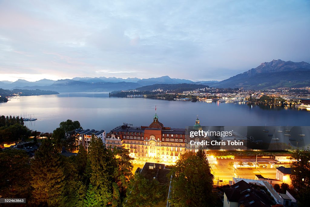
[[[193,152],[180,156],[171,169],[172,196],[174,206],[215,206],[216,195],[212,195],[213,175],[210,166]]]

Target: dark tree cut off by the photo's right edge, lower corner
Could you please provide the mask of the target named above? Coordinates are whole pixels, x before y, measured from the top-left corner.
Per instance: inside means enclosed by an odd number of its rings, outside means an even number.
[[[299,206],[308,206],[310,197],[310,151],[295,151],[291,156],[291,184],[298,190]]]

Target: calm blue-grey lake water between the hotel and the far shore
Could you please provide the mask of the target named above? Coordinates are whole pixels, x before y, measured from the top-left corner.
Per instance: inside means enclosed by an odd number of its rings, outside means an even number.
[[[165,101],[109,97],[108,93],[61,93],[11,98],[0,103],[0,115],[27,113],[38,120],[30,129],[52,132],[67,119],[78,120],[84,129],[110,131],[124,122],[148,126],[157,108],[158,120],[167,127],[193,126],[199,115],[203,126],[310,126],[310,111],[245,103]]]

